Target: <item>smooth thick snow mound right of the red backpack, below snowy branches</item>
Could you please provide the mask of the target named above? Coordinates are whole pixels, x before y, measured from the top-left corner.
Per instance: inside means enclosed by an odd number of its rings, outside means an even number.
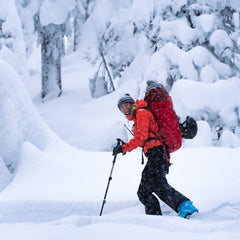
[[[238,78],[221,80],[212,84],[182,79],[173,85],[170,94],[175,110],[180,116],[185,117],[188,114],[204,116],[207,112],[212,112],[220,116],[226,128],[232,129],[237,126],[239,119],[236,111],[240,107],[239,87]],[[231,145],[236,146],[239,138],[234,137],[234,139],[235,144]]]

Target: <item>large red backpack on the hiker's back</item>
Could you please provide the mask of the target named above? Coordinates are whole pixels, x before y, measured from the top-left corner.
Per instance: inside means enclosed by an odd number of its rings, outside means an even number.
[[[146,93],[144,101],[158,124],[160,137],[169,152],[178,150],[182,146],[182,134],[168,92],[163,87],[154,87]]]

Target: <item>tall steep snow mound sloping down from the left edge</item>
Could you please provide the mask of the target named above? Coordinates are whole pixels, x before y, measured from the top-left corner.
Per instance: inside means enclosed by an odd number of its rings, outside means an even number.
[[[44,150],[57,142],[57,137],[36,111],[19,75],[1,60],[0,86],[0,156],[8,171],[14,173],[25,141]]]

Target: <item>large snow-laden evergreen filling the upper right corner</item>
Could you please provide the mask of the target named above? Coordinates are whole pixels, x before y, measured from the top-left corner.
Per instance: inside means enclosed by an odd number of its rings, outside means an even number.
[[[136,78],[136,97],[143,97],[147,80],[162,83],[171,93],[174,85],[183,79],[218,86],[215,83],[223,80],[234,85],[235,81],[230,79],[239,78],[238,0],[133,0],[115,11],[112,5],[108,7],[114,14],[101,21],[104,24],[97,32],[97,39],[98,49],[101,46],[113,73],[115,87],[131,85],[130,81]],[[99,19],[97,14],[92,17],[95,21]],[[91,57],[98,59],[93,63],[100,66],[101,60],[96,58],[95,52]],[[96,72],[98,69],[96,67]],[[105,86],[105,94],[108,93],[106,76],[101,82],[99,86]],[[97,81],[95,91],[96,84]],[[172,94],[176,94],[176,88]],[[227,96],[230,98],[229,92]],[[189,109],[185,108],[188,104],[184,99],[184,96],[182,99],[178,96],[182,102],[178,105],[179,112],[182,116],[188,112],[197,120],[207,121],[217,145],[221,144],[224,131],[240,137],[237,103],[226,98],[224,107],[204,105]],[[227,115],[232,121],[227,120]]]

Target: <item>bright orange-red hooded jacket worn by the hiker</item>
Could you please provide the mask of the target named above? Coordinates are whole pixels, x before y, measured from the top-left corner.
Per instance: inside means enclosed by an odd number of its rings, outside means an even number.
[[[123,152],[130,152],[137,147],[144,147],[144,153],[148,151],[148,149],[153,148],[155,146],[162,145],[162,141],[160,139],[152,139],[150,141],[146,141],[149,138],[156,138],[156,133],[158,132],[158,125],[150,111],[146,108],[147,103],[144,100],[136,101],[136,117],[127,116],[129,121],[134,121],[133,125],[133,135],[134,137],[126,144],[123,145]],[[155,133],[155,134],[154,134]]]

